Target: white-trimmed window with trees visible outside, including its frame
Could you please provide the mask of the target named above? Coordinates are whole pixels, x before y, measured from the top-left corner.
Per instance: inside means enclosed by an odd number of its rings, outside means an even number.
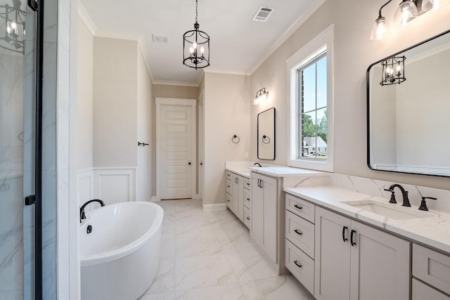
[[[333,171],[333,36],[331,25],[288,60],[288,165]]]

